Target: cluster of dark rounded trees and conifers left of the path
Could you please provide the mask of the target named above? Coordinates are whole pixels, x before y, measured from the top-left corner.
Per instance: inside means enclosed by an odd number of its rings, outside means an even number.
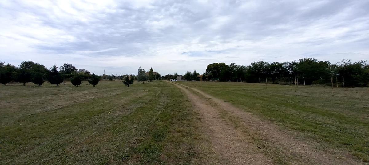
[[[23,83],[24,86],[28,82],[41,86],[47,80],[49,83],[59,86],[59,84],[65,84],[65,79],[70,79],[74,86],[81,85],[83,80],[87,80],[89,85],[95,86],[99,83],[100,76],[66,63],[58,71],[56,65],[47,69],[44,65],[33,61],[23,61],[18,67],[0,61],[0,83],[3,85],[14,81]]]

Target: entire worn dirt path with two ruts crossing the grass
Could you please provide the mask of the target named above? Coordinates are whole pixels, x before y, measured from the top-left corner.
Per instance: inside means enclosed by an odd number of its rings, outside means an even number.
[[[364,164],[344,151],[317,149],[317,143],[296,139],[296,134],[198,89],[172,84],[186,94],[199,113],[200,131],[220,157],[215,163]]]

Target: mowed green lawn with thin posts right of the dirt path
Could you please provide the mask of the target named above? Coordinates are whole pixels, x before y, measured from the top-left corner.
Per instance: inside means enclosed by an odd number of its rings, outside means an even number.
[[[298,132],[321,146],[369,161],[369,88],[334,88],[236,82],[178,82]]]

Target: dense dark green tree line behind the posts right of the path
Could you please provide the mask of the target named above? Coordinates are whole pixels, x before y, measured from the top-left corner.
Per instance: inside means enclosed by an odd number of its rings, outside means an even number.
[[[303,85],[326,84],[334,82],[342,86],[367,86],[369,82],[369,65],[367,61],[352,62],[342,60],[336,64],[318,61],[315,58],[303,58],[296,61],[272,62],[254,61],[250,65],[235,63],[213,63],[207,65],[206,72],[198,76],[196,70],[187,71],[183,77],[187,80],[232,81],[249,83],[280,83]],[[165,79],[177,78],[165,75]]]

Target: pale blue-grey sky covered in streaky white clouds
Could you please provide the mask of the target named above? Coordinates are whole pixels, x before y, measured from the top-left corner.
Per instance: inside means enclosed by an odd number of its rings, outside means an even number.
[[[0,61],[96,74],[369,60],[369,0],[0,0]]]

